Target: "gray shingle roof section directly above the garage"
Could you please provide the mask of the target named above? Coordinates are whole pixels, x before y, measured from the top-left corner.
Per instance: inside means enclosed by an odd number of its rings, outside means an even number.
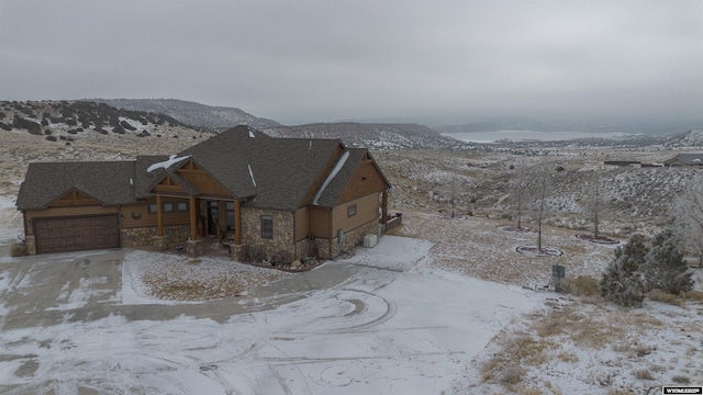
[[[133,184],[134,161],[30,163],[16,205],[45,208],[74,189],[104,205],[127,204],[136,201]]]

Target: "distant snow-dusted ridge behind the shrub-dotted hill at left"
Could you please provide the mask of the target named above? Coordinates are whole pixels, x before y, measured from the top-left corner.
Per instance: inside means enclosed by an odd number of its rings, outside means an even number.
[[[98,103],[171,116],[190,126],[222,132],[237,125],[257,129],[280,126],[276,121],[254,116],[237,108],[211,106],[176,99],[86,99]]]

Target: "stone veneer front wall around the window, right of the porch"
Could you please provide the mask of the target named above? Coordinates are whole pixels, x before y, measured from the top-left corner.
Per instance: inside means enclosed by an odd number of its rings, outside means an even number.
[[[274,218],[274,238],[261,237],[261,215],[270,215]],[[295,256],[291,212],[242,207],[242,244],[263,247],[269,257],[280,251]]]

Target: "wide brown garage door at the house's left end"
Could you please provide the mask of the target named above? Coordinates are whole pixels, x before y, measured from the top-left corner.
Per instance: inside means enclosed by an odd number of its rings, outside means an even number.
[[[36,252],[67,252],[120,247],[115,214],[34,221]]]

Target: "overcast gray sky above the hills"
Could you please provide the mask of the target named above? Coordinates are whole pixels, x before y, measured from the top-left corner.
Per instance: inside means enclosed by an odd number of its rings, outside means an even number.
[[[703,1],[0,0],[0,99],[284,124],[703,113]]]

